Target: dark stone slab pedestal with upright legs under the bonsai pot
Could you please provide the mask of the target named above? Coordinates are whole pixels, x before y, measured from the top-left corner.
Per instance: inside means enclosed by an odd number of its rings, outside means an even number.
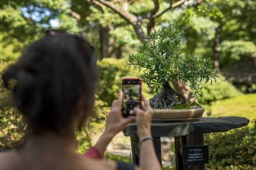
[[[231,129],[248,125],[249,120],[238,116],[222,116],[218,118],[202,118],[196,122],[162,122],[152,123],[151,131],[154,138],[155,152],[161,164],[161,141],[163,136],[175,136],[176,170],[203,170],[202,165],[183,165],[182,146],[203,145],[203,134],[212,132],[227,132]],[[139,164],[140,149],[138,148],[137,125],[129,124],[123,130],[125,136],[130,136],[132,146],[132,161]]]

